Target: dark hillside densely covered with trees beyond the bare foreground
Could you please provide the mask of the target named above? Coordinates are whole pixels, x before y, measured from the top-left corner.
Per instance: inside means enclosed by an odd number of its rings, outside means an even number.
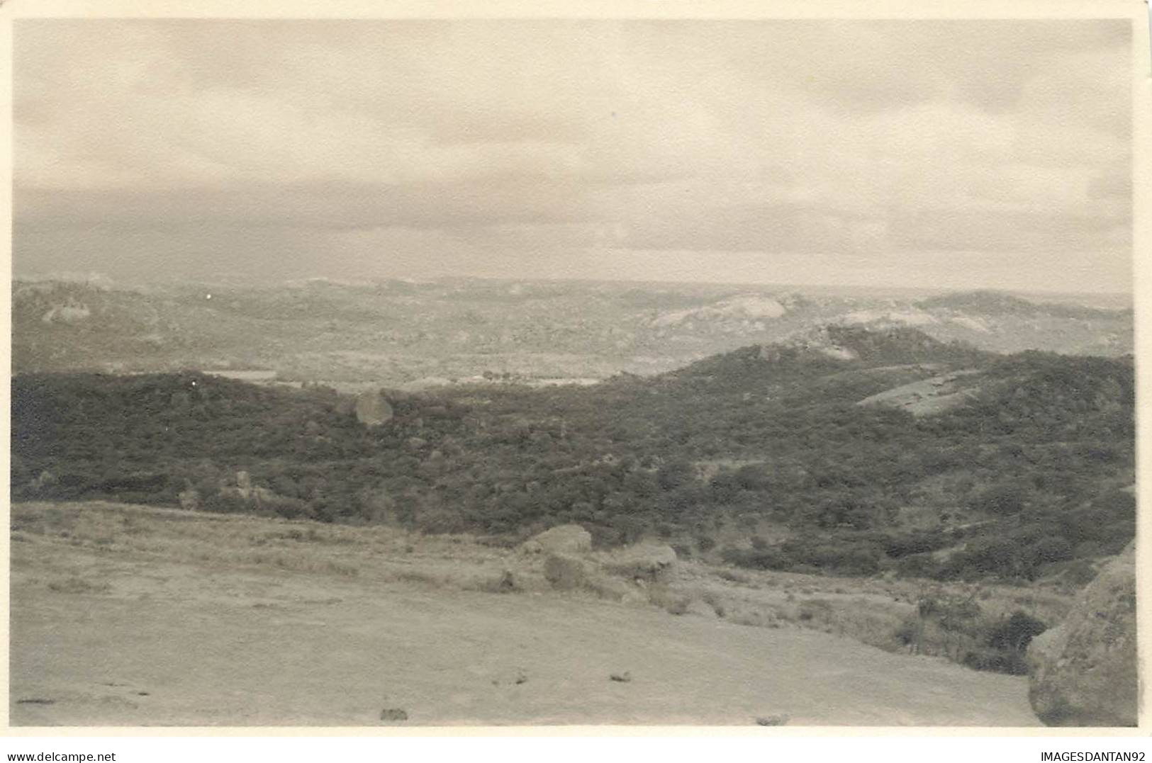
[[[931,414],[861,405],[963,372]],[[592,387],[385,391],[195,372],[13,380],[13,498],[183,505],[515,540],[579,522],[759,569],[1087,574],[1135,533],[1131,358],[829,327]]]

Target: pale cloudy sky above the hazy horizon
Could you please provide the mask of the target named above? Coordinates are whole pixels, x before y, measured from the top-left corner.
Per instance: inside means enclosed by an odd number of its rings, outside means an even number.
[[[1129,24],[20,20],[14,270],[1129,291]]]

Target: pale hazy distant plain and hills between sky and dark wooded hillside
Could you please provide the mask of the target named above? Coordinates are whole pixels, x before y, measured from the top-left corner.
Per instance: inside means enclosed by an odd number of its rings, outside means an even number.
[[[752,344],[806,341],[834,351],[828,327],[914,328],[1000,353],[1132,349],[1131,311],[999,292],[480,280],[130,289],[82,280],[17,281],[13,298],[17,372],[267,368],[349,390],[485,374],[655,375]]]

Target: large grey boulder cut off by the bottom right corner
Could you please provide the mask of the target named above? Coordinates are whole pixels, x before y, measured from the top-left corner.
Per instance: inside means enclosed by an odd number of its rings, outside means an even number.
[[[1029,701],[1049,726],[1135,726],[1136,555],[1129,543],[1090,582],[1064,621],[1028,650]]]

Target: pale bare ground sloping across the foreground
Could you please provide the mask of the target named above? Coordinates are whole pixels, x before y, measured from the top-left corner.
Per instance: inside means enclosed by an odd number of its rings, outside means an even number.
[[[1039,725],[1022,678],[561,594],[460,539],[314,527],[13,506],[10,723]],[[520,590],[491,593],[508,569]]]

